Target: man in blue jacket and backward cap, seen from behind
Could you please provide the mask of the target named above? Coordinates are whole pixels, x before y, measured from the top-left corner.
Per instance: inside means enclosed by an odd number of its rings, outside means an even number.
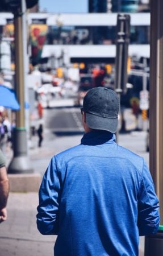
[[[158,230],[159,205],[144,159],[119,146],[119,100],[104,87],[83,99],[81,144],[53,156],[39,190],[37,228],[56,234],[55,256],[137,256]]]

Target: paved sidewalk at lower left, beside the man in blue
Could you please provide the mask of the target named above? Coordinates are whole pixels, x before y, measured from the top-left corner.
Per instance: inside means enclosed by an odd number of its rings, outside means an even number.
[[[53,256],[55,236],[36,228],[37,193],[10,193],[8,220],[0,226],[1,256]]]

